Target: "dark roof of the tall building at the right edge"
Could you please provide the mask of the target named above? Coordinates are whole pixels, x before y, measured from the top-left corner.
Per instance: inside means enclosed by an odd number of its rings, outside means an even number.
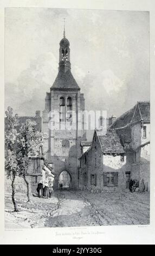
[[[123,128],[135,121],[150,121],[150,101],[138,101],[133,108],[117,118],[110,128]]]

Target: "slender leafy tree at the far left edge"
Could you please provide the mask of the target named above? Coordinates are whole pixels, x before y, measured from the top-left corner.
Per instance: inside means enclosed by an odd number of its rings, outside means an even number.
[[[17,155],[16,155],[16,139],[17,130],[16,124],[18,116],[13,115],[13,109],[8,107],[5,111],[5,172],[7,173],[7,178],[11,179],[12,187],[12,203],[14,204],[14,210],[17,210],[17,205],[15,202],[15,178],[18,173],[17,165]]]

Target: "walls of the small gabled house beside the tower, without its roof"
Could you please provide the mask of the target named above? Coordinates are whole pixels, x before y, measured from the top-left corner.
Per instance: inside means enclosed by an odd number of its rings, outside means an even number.
[[[125,189],[126,156],[124,162],[120,155],[102,155],[100,141],[96,133],[93,137],[92,147],[82,155],[79,169],[79,188],[91,192],[116,191]],[[104,173],[118,172],[118,186],[104,186]],[[91,184],[91,174],[96,175],[96,185]],[[86,181],[85,181],[86,175]]]

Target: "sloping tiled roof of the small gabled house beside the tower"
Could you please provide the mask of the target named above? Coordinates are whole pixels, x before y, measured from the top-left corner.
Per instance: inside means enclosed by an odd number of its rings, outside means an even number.
[[[96,131],[98,135],[98,131]],[[98,135],[103,153],[125,153],[120,138],[114,129],[108,130],[106,135]]]

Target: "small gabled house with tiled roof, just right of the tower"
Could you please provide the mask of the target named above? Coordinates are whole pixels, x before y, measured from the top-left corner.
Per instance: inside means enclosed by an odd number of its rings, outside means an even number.
[[[91,147],[79,158],[79,188],[91,192],[125,189],[125,150],[115,130],[95,130]]]

